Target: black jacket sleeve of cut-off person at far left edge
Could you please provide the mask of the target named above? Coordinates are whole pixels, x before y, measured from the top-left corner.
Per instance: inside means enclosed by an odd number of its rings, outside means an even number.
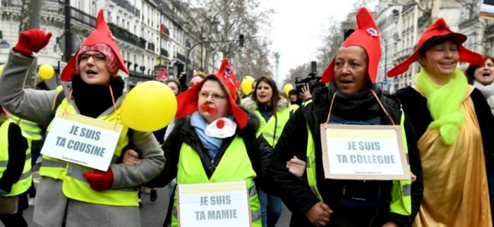
[[[8,123],[8,121],[5,121],[1,124]],[[18,182],[24,170],[25,151],[27,149],[28,141],[23,137],[20,127],[16,123],[10,123],[8,125],[8,164],[4,175],[0,178],[1,190],[11,192],[12,185]]]

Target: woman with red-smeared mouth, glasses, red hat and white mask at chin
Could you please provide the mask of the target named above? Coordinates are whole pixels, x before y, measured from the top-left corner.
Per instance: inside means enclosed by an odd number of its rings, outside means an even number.
[[[162,146],[167,164],[145,186],[163,188],[174,178],[177,185],[246,180],[252,226],[261,227],[255,186],[270,192],[266,185],[272,150],[264,137],[257,137],[260,119],[237,106],[238,87],[231,66],[223,59],[218,73],[179,94],[174,128]],[[171,219],[171,226],[176,227],[175,192],[171,202],[164,226]]]

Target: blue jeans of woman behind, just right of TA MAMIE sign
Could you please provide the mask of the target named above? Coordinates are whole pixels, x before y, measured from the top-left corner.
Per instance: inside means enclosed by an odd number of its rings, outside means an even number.
[[[260,214],[263,219],[263,227],[275,227],[279,216],[282,216],[283,202],[282,199],[267,195],[258,187],[260,201]]]

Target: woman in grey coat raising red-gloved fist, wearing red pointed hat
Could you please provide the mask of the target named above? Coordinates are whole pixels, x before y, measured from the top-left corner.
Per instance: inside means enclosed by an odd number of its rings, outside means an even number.
[[[121,124],[124,82],[128,73],[100,10],[93,31],[61,73],[62,90],[23,89],[34,58],[51,33],[21,32],[0,78],[0,104],[16,116],[52,128],[56,111]],[[71,80],[68,82],[68,80]],[[133,141],[133,142],[131,142]],[[123,149],[135,145],[140,166],[117,164]],[[46,146],[46,144],[45,144]],[[125,125],[107,171],[72,164],[45,154],[40,167],[34,221],[40,226],[140,226],[138,185],[152,180],[164,167],[164,156],[152,133]]]

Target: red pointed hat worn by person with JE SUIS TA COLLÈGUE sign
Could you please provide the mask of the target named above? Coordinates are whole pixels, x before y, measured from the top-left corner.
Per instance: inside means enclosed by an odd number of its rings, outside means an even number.
[[[371,82],[375,82],[378,75],[378,65],[381,58],[381,44],[379,30],[374,18],[366,7],[361,7],[356,13],[357,26],[342,47],[359,46],[366,50],[368,56],[368,73]],[[331,82],[335,78],[335,59],[327,66],[321,78],[322,82]]]

